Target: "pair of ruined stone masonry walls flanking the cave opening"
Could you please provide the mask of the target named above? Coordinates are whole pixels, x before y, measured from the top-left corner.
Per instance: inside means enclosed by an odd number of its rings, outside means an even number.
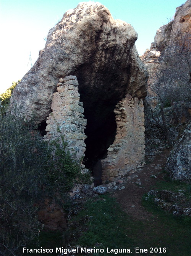
[[[84,140],[87,139],[87,136],[84,129],[87,120],[83,114],[83,102],[79,101],[78,85],[76,76],[59,79],[57,92],[53,93],[52,112],[46,121],[47,134],[44,135],[44,140],[60,140],[60,136],[63,135],[70,153],[81,160],[86,151]],[[113,113],[117,125],[116,135],[113,144],[107,149],[105,159],[101,160],[100,177],[94,173],[95,168],[92,168],[93,175],[101,179],[100,183],[113,181],[115,177],[125,175],[144,160],[144,108],[142,99],[139,100],[138,97],[133,98],[127,94],[115,105]],[[100,163],[100,160],[97,162]]]

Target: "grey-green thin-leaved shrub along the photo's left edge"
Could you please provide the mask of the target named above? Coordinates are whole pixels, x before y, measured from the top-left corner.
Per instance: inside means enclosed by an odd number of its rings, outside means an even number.
[[[0,254],[9,255],[38,234],[34,203],[42,197],[47,145],[34,124],[0,113]],[[7,249],[8,248],[8,249]]]

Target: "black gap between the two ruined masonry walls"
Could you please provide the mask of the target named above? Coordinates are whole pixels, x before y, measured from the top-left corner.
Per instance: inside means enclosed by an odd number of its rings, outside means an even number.
[[[78,78],[79,84],[81,83]],[[84,84],[84,83],[83,83]],[[117,132],[117,124],[113,110],[118,97],[111,88],[93,90],[79,86],[80,101],[83,102],[84,116],[87,119],[86,151],[83,164],[94,177],[94,185],[102,184],[101,159],[107,157],[107,149],[113,144]]]

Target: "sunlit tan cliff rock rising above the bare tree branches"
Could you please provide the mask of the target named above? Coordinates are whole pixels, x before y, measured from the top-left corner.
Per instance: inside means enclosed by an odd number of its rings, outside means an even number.
[[[148,91],[149,86],[153,85],[155,79],[157,79],[156,73],[161,70],[161,65],[167,65],[168,58],[177,58],[180,61],[180,57],[178,56],[181,53],[181,50],[174,50],[173,48],[183,46],[185,44],[186,49],[188,49],[189,56],[189,48],[191,42],[191,0],[187,0],[184,5],[176,8],[176,13],[174,20],[170,21],[168,24],[161,26],[155,35],[154,42],[151,43],[151,48],[147,50],[144,55],[142,55],[142,62],[146,65],[147,72],[149,74],[148,80]],[[185,42],[186,41],[186,42]],[[176,54],[176,52],[180,51]],[[168,56],[168,58],[167,58]],[[163,59],[165,57],[165,61]],[[189,57],[188,57],[189,61]],[[176,60],[175,60],[176,63]],[[182,70],[183,77],[189,75],[186,71],[185,65],[182,62],[180,65],[180,69]],[[190,69],[190,68],[189,68]],[[188,74],[186,74],[186,72]],[[189,80],[189,79],[188,79]],[[151,92],[152,95],[152,92]],[[153,99],[153,97],[147,97],[148,102],[155,107],[157,101]]]

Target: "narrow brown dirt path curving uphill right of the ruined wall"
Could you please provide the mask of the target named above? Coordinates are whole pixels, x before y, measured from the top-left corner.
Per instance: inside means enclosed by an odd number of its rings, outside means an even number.
[[[170,150],[165,149],[161,154],[157,155],[155,160],[139,168],[137,172],[131,173],[126,178],[125,188],[116,190],[113,196],[121,204],[123,210],[137,220],[149,220],[152,216],[142,205],[141,198],[152,189],[155,189],[156,182],[162,180],[163,174],[160,173],[167,162]],[[157,178],[151,178],[155,175]]]

